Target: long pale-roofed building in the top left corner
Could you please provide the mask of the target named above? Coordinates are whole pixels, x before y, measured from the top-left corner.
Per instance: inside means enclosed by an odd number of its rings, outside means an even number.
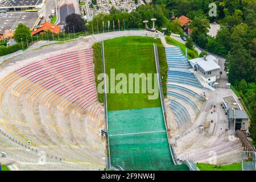
[[[0,10],[23,11],[28,9],[41,9],[45,0],[1,0]]]

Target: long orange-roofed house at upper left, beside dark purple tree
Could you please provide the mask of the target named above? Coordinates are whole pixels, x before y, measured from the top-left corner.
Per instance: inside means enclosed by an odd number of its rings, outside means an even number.
[[[45,22],[40,24],[40,27],[35,27],[34,31],[31,32],[31,35],[36,35],[36,34],[43,34],[45,31],[50,31],[53,32],[54,34],[59,34],[61,30],[60,26],[57,26],[55,24]]]

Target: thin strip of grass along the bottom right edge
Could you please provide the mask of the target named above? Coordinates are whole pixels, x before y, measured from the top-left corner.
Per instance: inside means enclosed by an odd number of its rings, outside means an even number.
[[[242,170],[242,163],[234,163],[234,164],[221,165],[221,166],[199,163],[199,164],[196,164],[196,166],[200,169],[200,171],[241,171]]]

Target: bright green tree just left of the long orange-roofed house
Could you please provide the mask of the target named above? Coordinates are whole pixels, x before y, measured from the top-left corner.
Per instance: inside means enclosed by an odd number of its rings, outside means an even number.
[[[23,42],[26,41],[26,38],[28,42],[31,41],[31,31],[30,28],[28,28],[23,23],[19,23],[18,27],[16,28],[14,32],[14,39],[16,42]]]

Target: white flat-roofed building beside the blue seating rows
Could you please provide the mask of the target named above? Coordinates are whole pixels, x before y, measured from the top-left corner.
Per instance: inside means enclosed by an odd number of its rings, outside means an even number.
[[[216,79],[220,78],[221,67],[218,65],[218,59],[216,57],[212,55],[198,57],[189,60],[189,62],[209,85],[213,85]]]

